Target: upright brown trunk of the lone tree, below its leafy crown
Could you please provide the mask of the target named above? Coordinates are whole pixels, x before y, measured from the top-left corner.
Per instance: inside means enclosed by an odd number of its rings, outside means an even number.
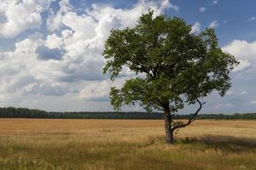
[[[170,111],[165,111],[165,127],[166,127],[166,143],[173,144],[173,131],[172,131],[172,116]]]

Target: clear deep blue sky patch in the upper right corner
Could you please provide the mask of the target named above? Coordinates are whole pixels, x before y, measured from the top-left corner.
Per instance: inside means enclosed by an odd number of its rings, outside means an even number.
[[[220,0],[216,4],[205,0],[172,2],[178,4],[180,8],[176,15],[189,23],[199,21],[203,27],[206,27],[212,20],[218,20],[219,26],[216,31],[221,46],[230,43],[234,38],[253,41],[256,37],[256,22],[248,21],[255,17],[256,2],[253,0]],[[200,13],[201,7],[206,9]]]

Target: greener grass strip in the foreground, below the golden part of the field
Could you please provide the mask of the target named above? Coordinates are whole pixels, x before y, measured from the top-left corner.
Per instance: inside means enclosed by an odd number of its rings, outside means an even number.
[[[52,137],[51,137],[52,138]],[[57,138],[57,137],[55,137]],[[11,141],[1,143],[0,169],[255,169],[256,146],[229,144],[206,139],[183,138],[167,145],[164,136],[151,136],[144,142],[91,142],[71,140],[40,145]],[[230,139],[230,137],[226,137]],[[2,138],[3,139],[3,138]],[[219,138],[220,139],[220,138]],[[232,138],[231,138],[232,139]],[[215,142],[213,142],[215,140]],[[6,140],[5,140],[6,141]],[[238,144],[238,146],[233,145]],[[238,148],[236,148],[238,147]],[[247,150],[248,147],[251,150]]]

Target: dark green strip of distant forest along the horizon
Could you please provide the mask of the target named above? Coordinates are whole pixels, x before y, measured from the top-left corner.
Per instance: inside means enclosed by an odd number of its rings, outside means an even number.
[[[190,115],[175,115],[175,119],[187,119]],[[163,119],[160,112],[49,112],[26,108],[0,108],[1,118],[56,118],[56,119]],[[254,119],[256,113],[243,114],[200,114],[197,119]]]

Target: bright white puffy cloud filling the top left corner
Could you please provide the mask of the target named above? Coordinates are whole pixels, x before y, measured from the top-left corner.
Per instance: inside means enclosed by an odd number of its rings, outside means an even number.
[[[0,0],[0,14],[6,20],[0,22],[0,37],[15,37],[27,29],[39,28],[41,14],[49,8],[51,0],[18,1]]]

